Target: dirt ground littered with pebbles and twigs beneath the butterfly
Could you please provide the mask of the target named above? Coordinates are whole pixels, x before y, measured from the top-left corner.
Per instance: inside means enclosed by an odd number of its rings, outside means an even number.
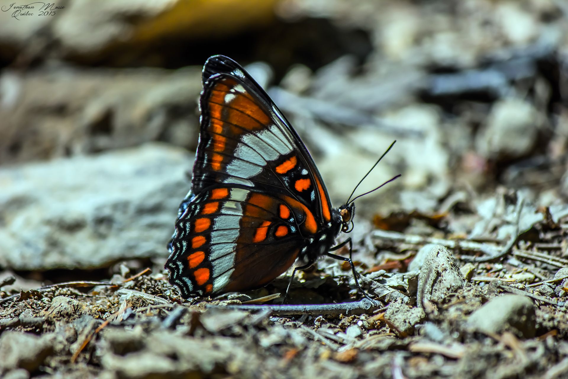
[[[115,284],[22,291],[1,300],[0,369],[6,377],[563,377],[568,309],[556,292],[566,279],[522,284],[507,276],[528,267],[489,262],[473,264],[465,281],[458,265],[471,263],[441,246],[431,252],[420,274],[367,274],[364,288],[376,283],[389,293],[356,314],[341,311],[361,294],[335,262],[306,273],[291,293],[292,302],[310,303],[315,291],[339,303],[330,314],[317,304],[286,316],[279,314],[294,305],[249,304],[282,293],[285,280],[182,301],[160,269],[115,275]],[[429,262],[440,259],[452,260],[450,269],[433,269]],[[448,277],[460,285],[447,285]],[[420,288],[437,293],[423,296],[422,308]]]

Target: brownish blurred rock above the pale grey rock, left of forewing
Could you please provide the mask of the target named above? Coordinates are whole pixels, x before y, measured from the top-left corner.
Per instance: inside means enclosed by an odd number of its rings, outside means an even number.
[[[0,76],[0,162],[160,140],[197,144],[201,68],[70,68]]]

